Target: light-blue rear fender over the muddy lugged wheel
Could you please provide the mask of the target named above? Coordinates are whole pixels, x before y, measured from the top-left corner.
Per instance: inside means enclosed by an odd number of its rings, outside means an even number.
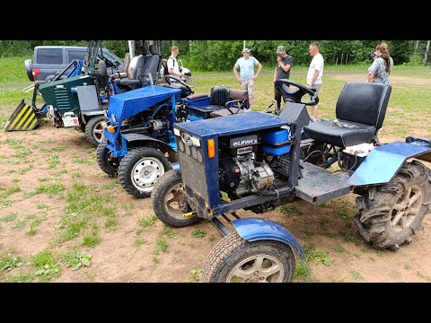
[[[428,158],[431,147],[425,142],[394,142],[374,148],[347,183],[353,186],[385,184],[391,181],[409,158]]]

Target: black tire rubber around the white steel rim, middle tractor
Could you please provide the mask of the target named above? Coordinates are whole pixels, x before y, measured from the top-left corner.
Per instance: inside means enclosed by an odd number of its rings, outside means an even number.
[[[152,191],[143,192],[135,188],[131,179],[131,173],[136,162],[138,162],[142,157],[154,157],[163,163],[164,171],[170,170],[172,168],[171,162],[166,158],[163,153],[152,147],[139,147],[130,150],[126,156],[123,157],[121,162],[119,162],[119,183],[121,186],[132,196],[138,198],[144,198],[151,196]],[[162,174],[163,175],[163,174]],[[155,185],[155,183],[154,183]]]

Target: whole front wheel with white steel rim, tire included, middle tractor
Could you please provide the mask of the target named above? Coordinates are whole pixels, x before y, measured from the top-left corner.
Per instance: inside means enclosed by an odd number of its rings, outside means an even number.
[[[148,197],[156,181],[170,169],[171,163],[157,149],[132,149],[119,163],[119,182],[128,194],[139,198]]]

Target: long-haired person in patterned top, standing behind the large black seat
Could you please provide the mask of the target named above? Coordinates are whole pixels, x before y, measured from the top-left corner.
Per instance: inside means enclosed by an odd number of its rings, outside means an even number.
[[[375,48],[374,58],[373,65],[368,68],[368,83],[389,84],[393,60],[389,54],[388,44],[378,44]]]

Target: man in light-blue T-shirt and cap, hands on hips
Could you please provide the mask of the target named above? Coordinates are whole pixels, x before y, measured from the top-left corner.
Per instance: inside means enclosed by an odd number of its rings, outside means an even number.
[[[254,74],[254,66],[258,66],[256,74]],[[238,67],[240,67],[240,74],[238,74]],[[242,49],[242,57],[238,58],[235,65],[233,65],[233,74],[241,84],[242,90],[249,92],[250,109],[254,103],[254,80],[258,77],[261,69],[262,65],[256,58],[251,57],[249,48]]]

